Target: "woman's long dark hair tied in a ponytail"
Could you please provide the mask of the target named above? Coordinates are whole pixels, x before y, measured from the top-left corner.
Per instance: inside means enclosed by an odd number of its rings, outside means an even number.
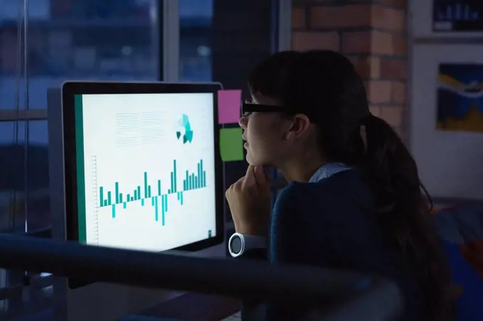
[[[318,124],[323,156],[362,173],[374,191],[381,231],[423,290],[422,320],[447,320],[453,314],[450,268],[430,217],[430,196],[401,138],[370,114],[352,63],[330,50],[277,53],[251,72],[249,89],[307,114]]]

